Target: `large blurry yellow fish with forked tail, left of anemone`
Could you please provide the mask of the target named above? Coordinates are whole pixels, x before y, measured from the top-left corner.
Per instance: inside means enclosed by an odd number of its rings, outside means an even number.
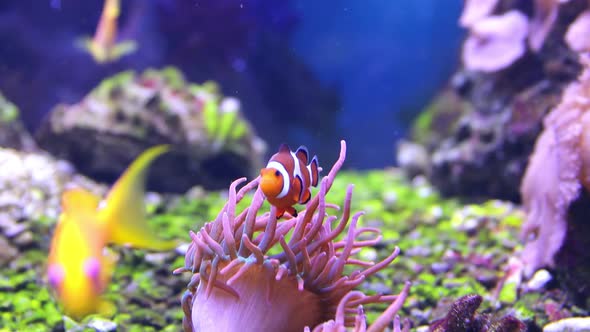
[[[159,239],[145,218],[147,168],[168,151],[158,145],[142,153],[111,188],[106,199],[84,189],[62,195],[62,211],[51,241],[47,279],[64,312],[74,319],[102,311],[114,260],[103,254],[109,243],[168,250],[175,241]]]

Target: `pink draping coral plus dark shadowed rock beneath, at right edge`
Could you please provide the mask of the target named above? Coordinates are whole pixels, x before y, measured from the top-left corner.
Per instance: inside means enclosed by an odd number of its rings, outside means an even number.
[[[545,128],[524,175],[521,192],[524,273],[556,268],[575,293],[590,295],[590,56],[561,103],[545,117]]]

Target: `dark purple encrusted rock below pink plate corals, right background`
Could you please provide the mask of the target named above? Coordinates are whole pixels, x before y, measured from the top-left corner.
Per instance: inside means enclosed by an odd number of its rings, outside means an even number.
[[[540,119],[545,109],[556,103],[557,93],[547,82],[540,82],[512,96],[499,111],[491,111],[493,105],[477,109],[464,99],[454,101],[456,92],[442,95],[450,101],[437,101],[435,107],[442,108],[438,113],[459,120],[431,126],[433,136],[439,137],[426,145],[432,161],[427,174],[433,184],[445,195],[518,201],[515,183],[520,182],[526,167]],[[453,111],[444,110],[445,105],[454,105],[454,117]]]

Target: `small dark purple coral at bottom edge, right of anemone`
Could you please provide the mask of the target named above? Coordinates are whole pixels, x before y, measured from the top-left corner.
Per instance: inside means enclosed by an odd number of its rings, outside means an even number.
[[[526,325],[517,318],[507,315],[492,320],[489,315],[478,314],[477,308],[483,298],[477,294],[465,295],[453,302],[444,318],[432,322],[431,332],[519,332]]]

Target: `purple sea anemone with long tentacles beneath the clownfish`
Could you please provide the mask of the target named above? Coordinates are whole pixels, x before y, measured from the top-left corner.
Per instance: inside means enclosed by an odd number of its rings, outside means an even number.
[[[217,218],[197,233],[190,232],[185,266],[175,271],[193,273],[182,298],[185,331],[382,331],[389,325],[410,284],[398,295],[369,296],[353,289],[387,267],[399,248],[378,263],[352,257],[381,239],[378,229],[357,227],[362,212],[351,218],[352,185],[334,229],[338,217],[327,214],[339,209],[326,202],[326,194],[345,155],[342,141],[340,157],[322,179],[318,194],[296,218],[278,221],[272,206],[258,216],[265,200],[260,189],[251,205],[236,213],[236,204],[259,179],[239,191],[245,178],[231,184],[228,202]],[[349,220],[348,232],[336,241]],[[345,274],[353,266],[360,268]],[[362,305],[375,302],[391,304],[367,328]],[[398,319],[394,329],[399,330]]]

